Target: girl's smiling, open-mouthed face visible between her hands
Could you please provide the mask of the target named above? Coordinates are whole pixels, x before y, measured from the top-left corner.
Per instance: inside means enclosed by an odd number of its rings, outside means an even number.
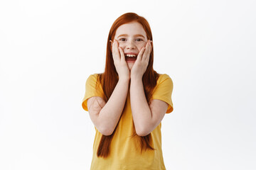
[[[117,28],[114,39],[124,51],[125,61],[131,70],[139,51],[146,46],[147,38],[144,28],[137,22],[123,24]]]

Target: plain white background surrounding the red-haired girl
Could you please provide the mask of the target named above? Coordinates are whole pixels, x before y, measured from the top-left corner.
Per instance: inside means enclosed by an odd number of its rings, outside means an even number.
[[[256,2],[0,2],[0,169],[90,169],[85,81],[105,68],[116,18],[151,26],[154,69],[174,81],[166,169],[256,169]]]

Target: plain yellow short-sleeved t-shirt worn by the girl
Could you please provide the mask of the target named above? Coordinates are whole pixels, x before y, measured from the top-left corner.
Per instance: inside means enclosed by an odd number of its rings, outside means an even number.
[[[104,94],[102,86],[95,89],[98,74],[91,74],[85,85],[85,97],[82,99],[82,108],[87,110],[87,99],[92,96],[100,96]],[[156,87],[152,94],[152,99],[159,99],[169,104],[166,113],[173,111],[173,103],[171,101],[171,93],[173,90],[173,82],[169,75],[160,74]],[[134,131],[132,120],[132,110],[129,92],[127,101],[124,106],[122,116],[117,125],[110,144],[110,154],[107,159],[97,157],[97,148],[100,144],[102,134],[95,128],[95,141],[93,144],[93,156],[91,170],[164,170],[164,159],[161,150],[161,123],[151,132],[151,147],[155,150],[147,149],[146,152],[140,152],[138,138],[131,137]]]

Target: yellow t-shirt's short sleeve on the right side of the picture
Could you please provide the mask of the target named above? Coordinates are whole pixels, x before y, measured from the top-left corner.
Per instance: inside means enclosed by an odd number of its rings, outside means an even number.
[[[151,99],[159,99],[161,101],[165,101],[168,104],[166,113],[171,113],[174,110],[171,100],[173,88],[174,84],[171,80],[171,77],[169,77],[168,74],[160,74]]]

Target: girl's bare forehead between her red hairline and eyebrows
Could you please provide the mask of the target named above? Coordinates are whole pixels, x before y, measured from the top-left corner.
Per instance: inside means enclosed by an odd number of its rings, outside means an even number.
[[[118,35],[121,35],[121,34],[127,34],[129,36],[142,34],[146,38],[146,32],[142,27],[142,24],[137,22],[125,23],[122,26],[119,26],[119,28],[117,28],[117,32],[115,33],[114,37],[117,37]]]

